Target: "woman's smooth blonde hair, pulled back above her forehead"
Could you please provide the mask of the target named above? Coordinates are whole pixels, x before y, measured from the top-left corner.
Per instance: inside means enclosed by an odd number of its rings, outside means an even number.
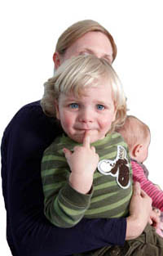
[[[112,60],[114,61],[117,56],[117,46],[112,38],[112,35],[95,20],[81,20],[71,25],[60,35],[55,47],[55,52],[63,56],[68,47],[70,47],[78,38],[81,38],[84,34],[92,31],[97,31],[105,34],[108,37],[112,45]]]

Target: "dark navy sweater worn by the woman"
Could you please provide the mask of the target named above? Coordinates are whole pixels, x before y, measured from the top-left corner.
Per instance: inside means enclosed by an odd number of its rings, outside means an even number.
[[[2,191],[7,209],[7,242],[14,256],[59,256],[105,245],[123,245],[126,219],[85,219],[55,227],[43,213],[42,153],[58,135],[39,101],[24,106],[2,138]]]

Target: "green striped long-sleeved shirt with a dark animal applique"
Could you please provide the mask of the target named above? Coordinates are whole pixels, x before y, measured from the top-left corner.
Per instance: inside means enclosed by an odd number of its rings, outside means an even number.
[[[132,172],[126,142],[117,132],[108,134],[103,140],[92,143],[99,161],[117,159],[118,146],[126,150],[127,164],[120,164],[107,175],[97,168],[94,174],[93,189],[89,195],[83,195],[68,183],[70,168],[64,157],[63,148],[73,150],[79,144],[63,135],[57,137],[42,158],[42,185],[44,191],[44,212],[58,227],[73,227],[81,218],[119,218],[129,212],[132,195]],[[117,161],[121,162],[120,161]],[[128,168],[128,172],[127,172]],[[121,181],[128,175],[128,186],[121,186]]]

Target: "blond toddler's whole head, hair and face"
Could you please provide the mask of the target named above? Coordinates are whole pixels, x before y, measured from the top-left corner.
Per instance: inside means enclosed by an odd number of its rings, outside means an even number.
[[[77,56],[60,65],[45,83],[41,104],[77,142],[86,130],[90,142],[97,141],[126,118],[126,97],[117,74],[96,56]]]

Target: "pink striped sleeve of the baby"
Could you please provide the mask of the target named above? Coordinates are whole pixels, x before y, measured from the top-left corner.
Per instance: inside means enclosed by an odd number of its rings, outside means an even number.
[[[152,198],[152,205],[163,211],[163,191],[159,190],[152,182],[150,182],[143,172],[143,168],[139,163],[131,161],[133,169],[134,182],[140,183],[141,188]]]

